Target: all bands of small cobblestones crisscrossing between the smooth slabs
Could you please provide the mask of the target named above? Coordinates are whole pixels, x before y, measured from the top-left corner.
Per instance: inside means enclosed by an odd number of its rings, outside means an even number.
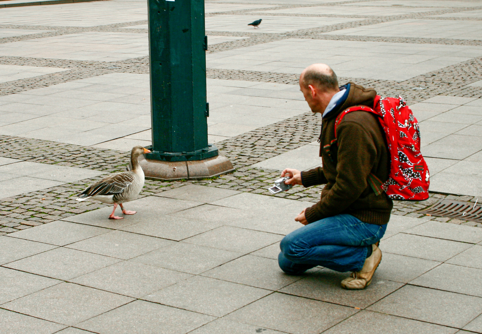
[[[353,1],[340,1],[323,3],[323,6],[338,6]],[[365,2],[365,1],[354,1]],[[209,3],[209,1],[208,1]],[[215,3],[215,2],[213,2]],[[285,10],[319,6],[317,3],[289,4],[276,7],[256,8],[252,10],[232,10],[207,13],[207,17],[219,15],[253,15],[256,12],[270,11],[273,16],[309,16],[309,17],[341,17],[356,18],[355,21],[339,23],[335,25],[322,26],[317,28],[305,28],[283,33],[254,33],[254,32],[230,32],[210,31],[211,35],[218,36],[244,36],[237,41],[221,42],[209,47],[208,54],[215,54],[227,50],[235,50],[242,47],[257,45],[260,43],[281,41],[289,38],[302,39],[329,39],[341,41],[362,41],[362,42],[397,42],[397,43],[421,43],[421,44],[446,44],[446,45],[482,45],[481,40],[454,39],[454,38],[416,38],[416,37],[377,37],[377,36],[352,36],[352,35],[320,35],[321,33],[338,31],[345,28],[356,28],[371,26],[384,22],[394,22],[401,19],[438,19],[433,15],[448,15],[477,11],[482,6],[471,7],[448,7],[433,8],[429,11],[403,14],[403,15],[344,15],[344,14],[296,14],[276,13],[273,10]],[[358,20],[359,19],[359,20]],[[480,17],[446,17],[448,20],[472,20],[479,21]],[[129,21],[97,25],[92,27],[72,26],[48,26],[31,24],[0,24],[0,29],[37,29],[38,33],[28,35],[9,36],[0,38],[0,44],[9,42],[31,41],[40,38],[63,36],[88,31],[100,32],[125,32],[126,27],[130,32],[146,33],[146,28],[141,27],[147,24],[147,20]],[[44,74],[32,78],[19,79],[0,83],[0,96],[10,95],[29,89],[54,85],[58,83],[89,78],[112,72],[127,73],[148,73],[148,57],[125,59],[114,62],[54,59],[26,56],[1,56],[0,64],[23,65],[39,67],[64,68],[65,71]],[[221,70],[208,69],[208,78],[228,79],[241,81],[258,81],[271,83],[296,84],[297,74],[273,73],[267,71],[249,70]],[[434,70],[412,79],[397,82],[390,80],[375,80],[361,78],[340,78],[340,82],[357,81],[365,86],[375,87],[377,92],[385,96],[401,94],[406,97],[409,103],[424,101],[429,97],[437,95],[459,96],[459,97],[482,97],[481,86],[468,86],[482,80],[482,57],[475,57],[470,60],[457,63],[452,66]],[[185,184],[198,183],[207,186],[241,190],[244,192],[270,195],[267,188],[277,178],[279,172],[274,170],[260,170],[250,168],[256,162],[263,161],[278,154],[290,151],[297,147],[308,144],[316,138],[319,131],[317,119],[311,113],[303,113],[295,117],[277,122],[268,126],[260,127],[254,131],[244,133],[230,139],[216,143],[216,145],[233,162],[237,171],[221,178],[208,181],[174,181],[159,182],[147,181],[143,195],[169,190]],[[20,149],[20,150],[14,150]],[[13,152],[15,151],[15,152]],[[105,172],[118,172],[123,170],[128,160],[128,153],[113,150],[102,150],[91,147],[81,147],[72,144],[54,143],[38,139],[17,138],[11,136],[0,136],[0,156],[10,157],[26,161],[34,161],[46,164],[58,164],[62,166],[82,167],[96,169]],[[2,199],[0,202],[0,233],[9,233],[17,229],[27,228],[36,224],[47,223],[66,217],[79,214],[88,210],[104,206],[100,203],[79,203],[73,198],[86,184],[94,180],[82,180],[74,183],[44,189],[41,191],[16,195],[12,198]],[[289,192],[278,194],[279,197],[287,197],[301,201],[316,202],[321,191],[320,187],[303,189],[295,187]],[[429,200],[420,203],[396,202],[393,213],[399,215],[419,216],[415,210],[426,208],[432,205],[438,198],[446,195],[431,194]],[[448,195],[449,197],[454,195]],[[450,198],[452,198],[450,197]],[[455,196],[459,200],[474,201],[471,196]],[[434,218],[440,221],[452,223],[463,223],[480,226],[481,224],[459,220],[448,220]]]

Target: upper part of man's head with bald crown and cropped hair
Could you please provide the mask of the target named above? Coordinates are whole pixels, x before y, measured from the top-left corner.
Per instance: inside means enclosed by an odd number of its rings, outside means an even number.
[[[316,86],[322,91],[338,91],[338,78],[328,65],[312,64],[301,73],[300,85],[304,88]]]

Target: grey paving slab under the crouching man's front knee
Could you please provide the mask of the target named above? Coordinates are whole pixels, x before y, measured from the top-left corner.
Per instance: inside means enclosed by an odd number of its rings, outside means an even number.
[[[319,269],[310,269],[308,273],[316,270]],[[245,255],[206,271],[202,273],[202,276],[250,285],[262,289],[278,290],[306,275],[286,275],[280,269],[277,260]]]

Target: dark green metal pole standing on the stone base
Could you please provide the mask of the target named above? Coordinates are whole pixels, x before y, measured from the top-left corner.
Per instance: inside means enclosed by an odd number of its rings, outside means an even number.
[[[203,160],[207,141],[204,0],[148,0],[152,153],[147,159]]]

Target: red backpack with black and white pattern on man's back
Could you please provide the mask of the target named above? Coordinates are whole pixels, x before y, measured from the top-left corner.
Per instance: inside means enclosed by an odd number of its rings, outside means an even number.
[[[407,107],[403,97],[375,97],[374,109],[354,106],[342,111],[335,121],[340,124],[351,111],[368,111],[378,117],[387,138],[390,153],[390,173],[388,180],[380,181],[373,173],[368,175],[368,183],[376,195],[383,191],[391,199],[422,201],[428,198],[427,163],[420,153],[420,131],[414,114]]]

